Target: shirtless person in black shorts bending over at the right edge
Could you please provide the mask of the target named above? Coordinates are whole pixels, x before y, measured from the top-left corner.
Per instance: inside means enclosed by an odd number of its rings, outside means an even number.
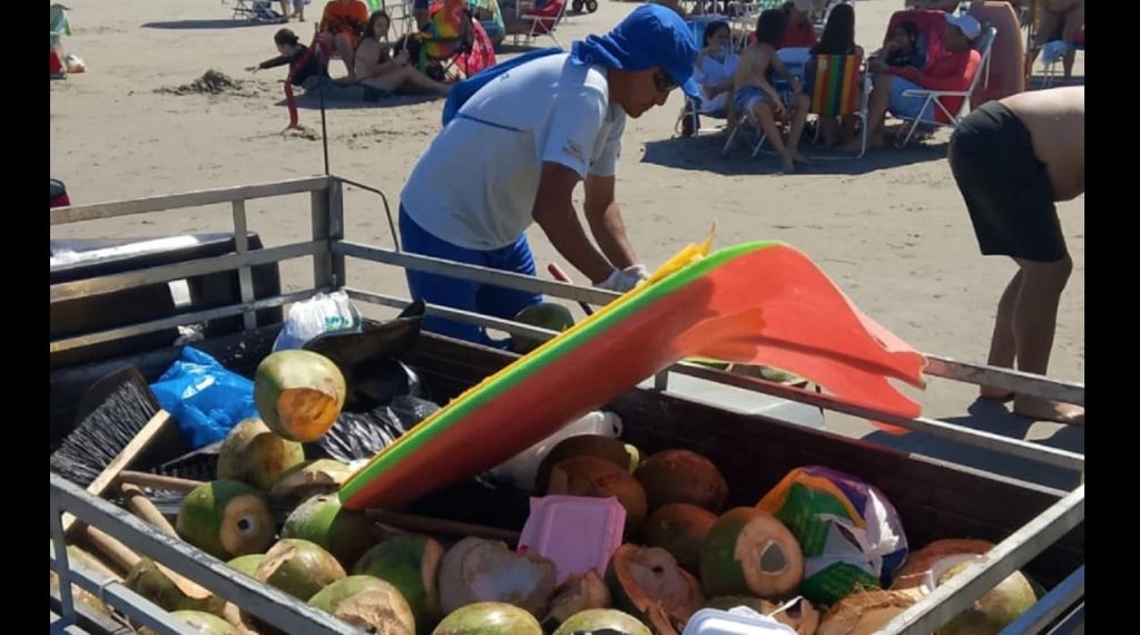
[[[997,306],[988,364],[1044,375],[1073,270],[1054,203],[1084,194],[1084,87],[984,104],[954,131],[950,168],[982,253],[1018,264]],[[1012,398],[1013,412],[1036,420],[1084,424],[1072,404],[991,386],[982,397]]]

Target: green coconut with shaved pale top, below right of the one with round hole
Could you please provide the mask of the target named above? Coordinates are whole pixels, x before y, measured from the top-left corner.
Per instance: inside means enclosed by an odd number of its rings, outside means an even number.
[[[333,554],[319,545],[284,538],[266,552],[253,577],[308,602],[318,591],[343,580],[347,575]]]

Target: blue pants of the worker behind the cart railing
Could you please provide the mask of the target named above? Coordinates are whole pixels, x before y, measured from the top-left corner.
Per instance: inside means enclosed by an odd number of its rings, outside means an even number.
[[[437,238],[416,225],[412,220],[412,217],[404,210],[402,204],[400,205],[400,243],[404,251],[410,253],[445,258],[465,264],[478,264],[479,267],[526,274],[528,276],[536,274],[535,258],[530,253],[530,245],[527,243],[526,234],[520,236],[513,244],[503,249],[490,251],[469,250]],[[412,269],[407,269],[406,272],[412,298],[414,300],[422,299],[429,304],[439,304],[511,319],[522,309],[543,301],[542,295],[524,291],[486,285],[424,271],[413,271]],[[433,333],[488,347],[505,349],[510,344],[508,340],[492,340],[487,334],[487,329],[481,326],[438,317],[425,317],[424,328]]]

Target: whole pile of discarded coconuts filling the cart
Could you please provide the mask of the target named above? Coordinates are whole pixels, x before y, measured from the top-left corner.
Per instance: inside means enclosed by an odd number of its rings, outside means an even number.
[[[841,511],[796,507],[817,492],[792,475],[756,506],[726,508],[728,483],[705,456],[677,448],[642,461],[619,439],[577,435],[545,456],[536,489],[613,497],[625,508],[626,524],[604,571],[571,576],[560,585],[554,562],[537,553],[516,553],[478,537],[393,534],[364,512],[342,508],[335,491],[350,469],[329,459],[304,461],[302,443],[329,430],[344,394],[336,365],[318,353],[282,351],[267,358],[255,381],[260,418],[230,431],[217,480],[186,495],[176,530],[235,570],[366,632],[675,635],[702,608],[748,606],[774,613],[801,635],[862,635],[992,546],[943,540],[907,554],[893,520],[883,531],[886,547],[854,549],[844,562],[820,551],[830,542],[817,535]],[[852,482],[825,488],[832,496],[860,486],[853,477],[836,478]],[[876,508],[894,513],[881,492],[860,487],[879,497]],[[814,511],[805,515],[804,508]],[[821,569],[823,556],[840,568]],[[891,565],[868,565],[881,561]],[[202,633],[276,633],[148,560],[132,568],[127,584]],[[1034,602],[1028,580],[1015,572],[938,634],[997,633]]]

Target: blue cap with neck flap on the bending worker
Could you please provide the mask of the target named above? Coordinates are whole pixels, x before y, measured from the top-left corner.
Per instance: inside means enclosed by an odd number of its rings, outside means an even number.
[[[589,35],[571,48],[579,64],[601,64],[622,71],[661,67],[694,99],[701,98],[693,81],[697,39],[682,17],[661,5],[642,5],[605,35]]]

